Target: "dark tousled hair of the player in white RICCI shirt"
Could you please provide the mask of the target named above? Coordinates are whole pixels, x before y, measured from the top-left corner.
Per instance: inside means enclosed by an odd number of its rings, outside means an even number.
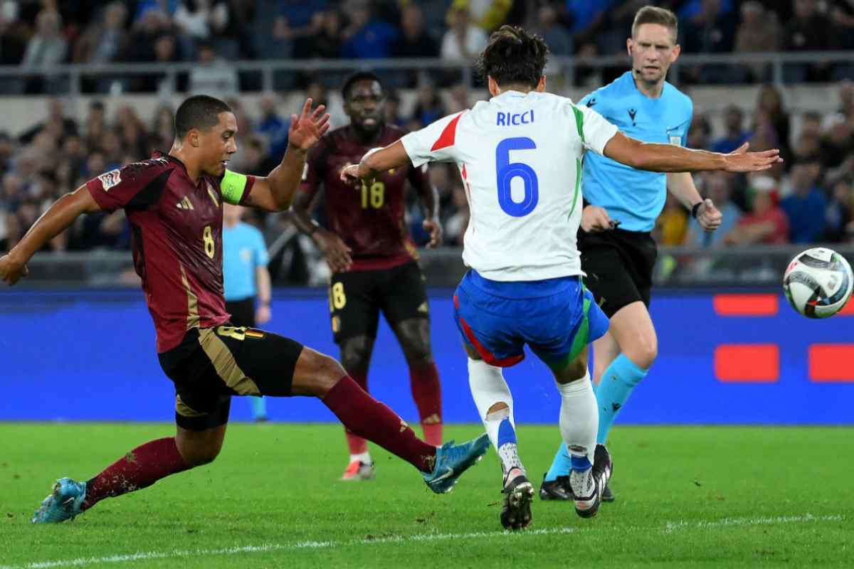
[[[477,56],[477,70],[483,79],[491,77],[500,85],[540,83],[548,60],[548,46],[541,36],[520,26],[501,26],[489,36],[489,44]]]

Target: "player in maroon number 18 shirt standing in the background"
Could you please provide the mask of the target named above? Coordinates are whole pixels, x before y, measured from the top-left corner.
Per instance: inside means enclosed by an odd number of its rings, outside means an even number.
[[[424,229],[430,244],[442,241],[439,198],[426,168],[403,165],[384,172],[370,186],[354,189],[339,177],[342,167],[359,164],[371,148],[406,134],[385,124],[385,94],[377,75],[359,72],[342,87],[350,124],[331,131],[309,154],[301,191],[291,207],[295,225],[325,253],[332,270],[332,334],[341,347],[341,363],[367,391],[368,365],[383,312],[409,366],[412,398],[421,415],[424,440],[442,443],[442,387],[430,349],[430,310],[418,253],[404,221],[407,182],[424,206]],[[308,210],[321,185],[330,229],[319,226]],[[346,432],[350,461],[342,480],[374,477],[365,438]]]

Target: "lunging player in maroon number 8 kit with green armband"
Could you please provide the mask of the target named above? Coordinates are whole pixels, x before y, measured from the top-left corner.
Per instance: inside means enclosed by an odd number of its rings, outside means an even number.
[[[222,204],[287,209],[308,148],[329,128],[323,111],[322,106],[312,111],[308,99],[301,115],[291,117],[282,163],[267,177],[252,177],[226,167],[237,151],[231,108],[210,96],[192,96],[175,114],[169,154],[109,171],[62,196],[0,258],[0,279],[13,285],[26,276],[32,254],[79,215],[124,208],[161,367],[176,392],[174,437],[138,446],[86,482],[58,480],[33,523],[73,519],[104,498],[213,461],[225,438],[233,395],[320,398],[351,431],[417,467],[436,492],[449,491],[486,452],[486,435],[458,446],[424,443],[331,357],[278,334],[229,323]]]

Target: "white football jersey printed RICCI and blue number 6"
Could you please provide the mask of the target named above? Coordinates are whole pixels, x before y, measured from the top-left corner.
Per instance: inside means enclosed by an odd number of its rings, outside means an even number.
[[[463,261],[493,281],[581,275],[582,157],[617,127],[550,93],[506,91],[401,142],[412,165],[454,162],[471,219]]]

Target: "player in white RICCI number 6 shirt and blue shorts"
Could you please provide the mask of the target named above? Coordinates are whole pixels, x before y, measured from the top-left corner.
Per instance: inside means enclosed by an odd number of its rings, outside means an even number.
[[[502,368],[524,358],[524,345],[547,363],[560,392],[580,516],[596,514],[610,476],[610,459],[594,460],[599,415],[587,349],[608,321],[581,282],[576,249],[585,152],[653,171],[755,171],[779,160],[777,150],[716,154],[629,138],[594,109],[545,92],[547,52],[539,36],[501,26],[478,58],[488,102],[373,149],[341,174],[356,183],[409,162],[459,167],[471,206],[463,253],[470,270],[454,293],[455,317],[471,395],[503,469],[501,524],[514,530],[530,524],[534,488],[518,455]]]

